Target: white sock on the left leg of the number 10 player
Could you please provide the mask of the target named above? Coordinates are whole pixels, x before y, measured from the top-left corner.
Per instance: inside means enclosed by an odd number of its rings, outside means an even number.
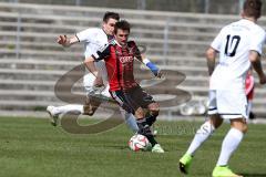
[[[197,148],[213,134],[214,126],[209,121],[205,122],[200,129],[197,129],[194,139],[191,143],[186,154],[194,155]]]

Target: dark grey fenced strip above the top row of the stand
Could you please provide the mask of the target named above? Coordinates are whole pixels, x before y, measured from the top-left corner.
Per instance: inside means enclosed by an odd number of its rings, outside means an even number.
[[[262,0],[266,3],[266,0]],[[0,0],[0,2],[62,4],[194,13],[237,14],[244,0]],[[263,14],[266,7],[263,7]]]

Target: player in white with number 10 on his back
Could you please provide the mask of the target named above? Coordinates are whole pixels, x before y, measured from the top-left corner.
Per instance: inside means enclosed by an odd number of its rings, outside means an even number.
[[[226,118],[231,121],[231,129],[224,137],[212,176],[239,177],[229,169],[228,160],[247,132],[245,79],[250,65],[257,72],[260,84],[266,83],[260,64],[266,34],[256,24],[260,11],[260,0],[246,0],[242,20],[224,27],[206,51],[211,75],[209,119],[200,127],[187,152],[180,159],[180,169],[184,174],[188,173],[188,167],[200,146]],[[219,53],[219,62],[215,66],[217,53]]]

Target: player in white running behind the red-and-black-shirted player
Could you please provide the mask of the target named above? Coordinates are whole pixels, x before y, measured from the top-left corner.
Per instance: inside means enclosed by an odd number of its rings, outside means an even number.
[[[103,17],[102,28],[90,28],[84,31],[76,33],[73,37],[68,38],[66,35],[60,35],[58,38],[58,43],[68,48],[72,44],[84,42],[85,52],[84,56],[91,56],[92,53],[99,51],[101,48],[104,48],[108,44],[109,40],[113,38],[114,24],[120,20],[119,13],[115,12],[106,12]],[[101,76],[95,79],[95,76],[91,73],[85,74],[83,77],[84,90],[88,95],[88,101],[84,105],[79,104],[68,104],[64,106],[48,106],[47,111],[51,115],[52,125],[57,126],[58,117],[60,114],[72,113],[72,114],[83,114],[83,115],[93,115],[96,108],[100,106],[101,101],[93,100],[90,95],[98,92],[95,90],[99,86],[105,84],[105,88],[101,92],[101,95],[106,98],[111,98],[109,93],[108,85],[108,74],[105,69],[105,63],[98,62],[96,67],[101,71]],[[105,81],[105,82],[104,82]],[[121,114],[125,117],[125,122],[129,127],[135,133],[139,131],[139,127],[135,123],[135,117],[132,114],[129,114],[121,110]]]

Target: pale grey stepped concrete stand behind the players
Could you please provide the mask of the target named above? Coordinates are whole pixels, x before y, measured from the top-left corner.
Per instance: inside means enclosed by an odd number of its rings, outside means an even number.
[[[35,1],[34,1],[35,2]],[[236,4],[237,6],[237,4]],[[133,8],[132,8],[133,9]],[[59,34],[73,34],[100,27],[105,11],[117,11],[132,24],[132,38],[147,49],[147,56],[162,69],[186,75],[178,88],[193,101],[183,107],[204,113],[208,76],[204,52],[218,30],[238,15],[181,13],[144,10],[0,2],[0,114],[35,114],[50,104],[63,104],[54,96],[59,77],[83,60],[82,45],[63,49]],[[196,11],[196,10],[195,10]],[[201,11],[198,11],[201,12]],[[266,18],[259,23],[266,29]],[[266,69],[265,62],[263,62]],[[79,83],[74,91],[81,91]],[[265,117],[266,90],[257,85],[254,113]],[[188,110],[188,111],[186,111]],[[12,111],[12,112],[11,112]],[[164,111],[172,117],[180,108]]]

